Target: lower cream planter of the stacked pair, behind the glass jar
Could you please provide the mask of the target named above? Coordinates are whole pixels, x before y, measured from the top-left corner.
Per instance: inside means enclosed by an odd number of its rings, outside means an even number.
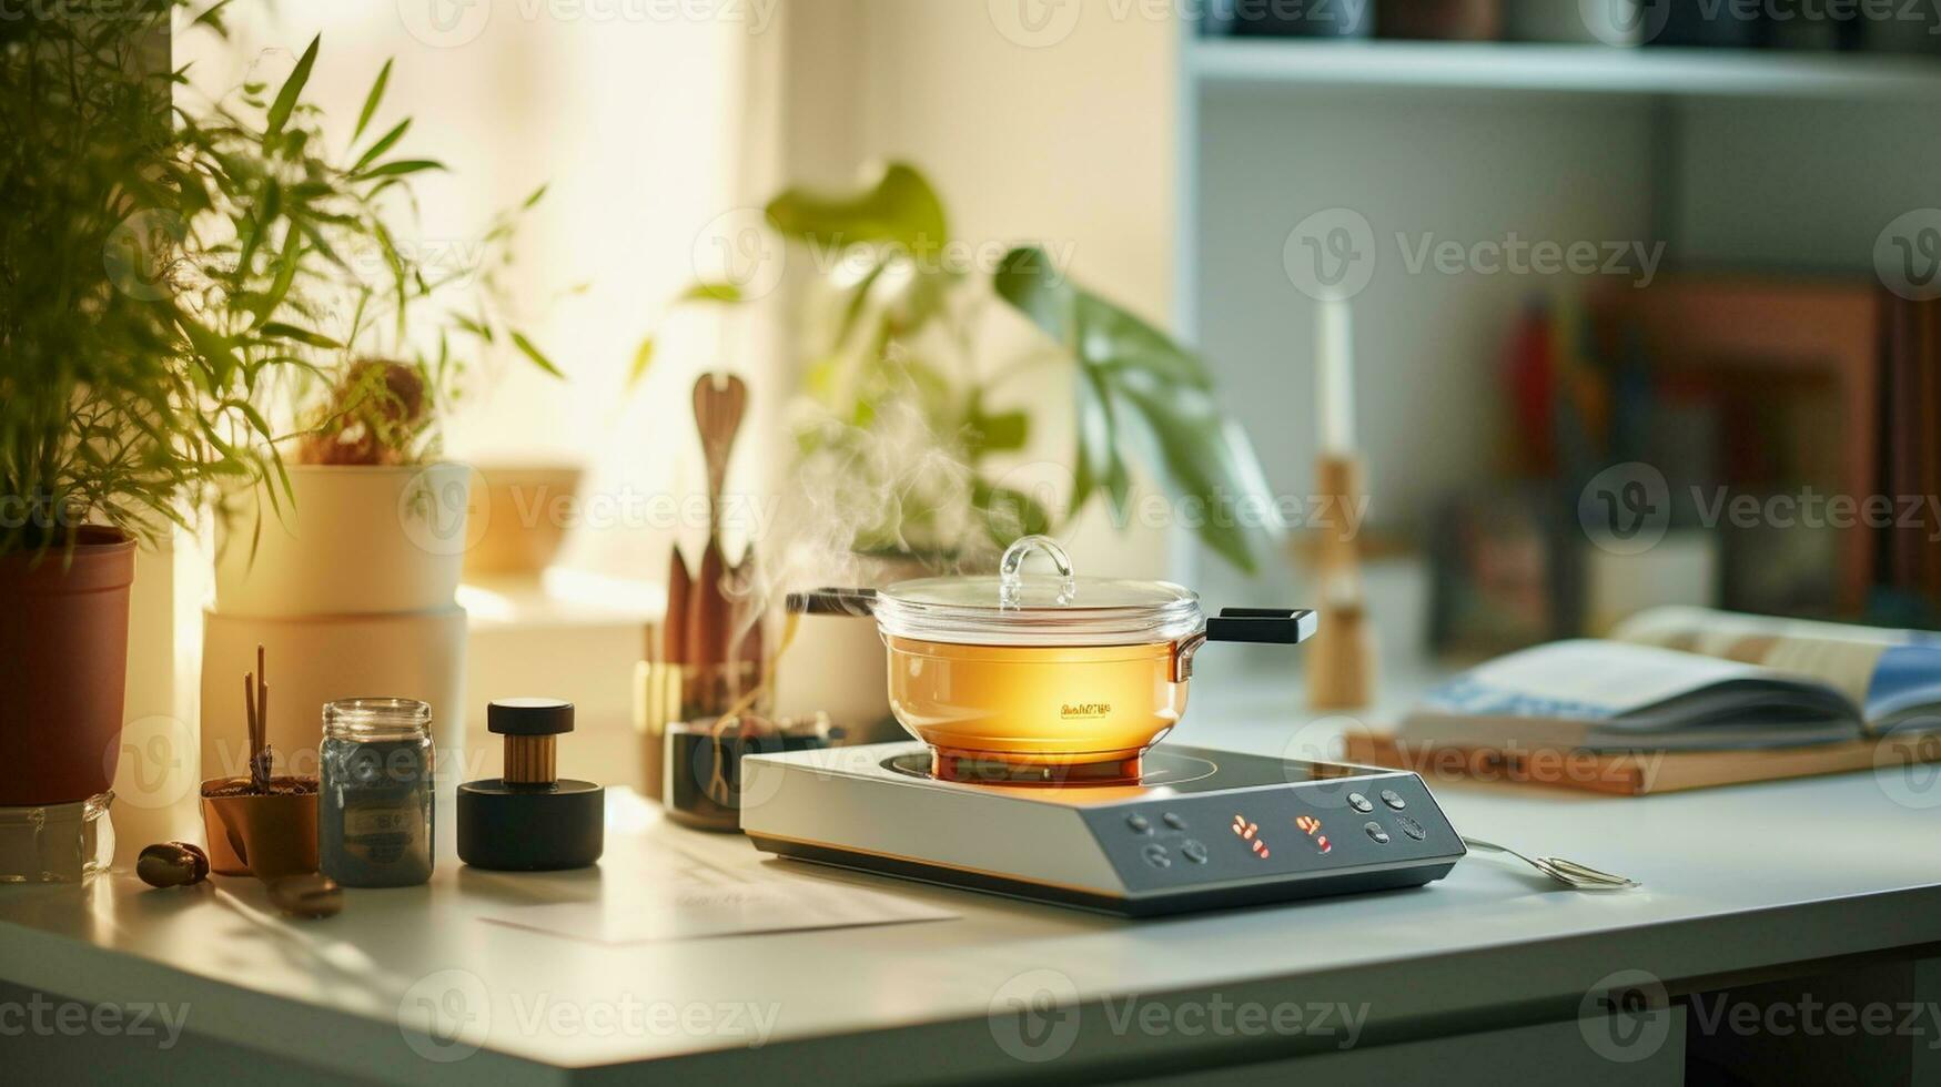
[[[278,773],[314,774],[324,703],[361,697],[431,705],[439,786],[464,769],[466,613],[314,615],[260,619],[202,615],[202,776],[248,773],[243,675],[264,646],[270,674],[270,745]],[[477,776],[477,774],[472,774]]]

